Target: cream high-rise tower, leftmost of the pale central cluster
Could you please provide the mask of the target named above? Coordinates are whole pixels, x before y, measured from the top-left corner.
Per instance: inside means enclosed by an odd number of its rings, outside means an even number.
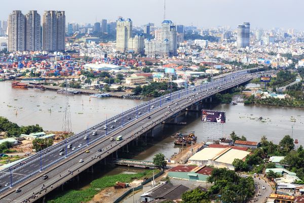
[[[116,49],[120,52],[128,51],[129,39],[132,37],[132,20],[119,18],[116,21]]]

